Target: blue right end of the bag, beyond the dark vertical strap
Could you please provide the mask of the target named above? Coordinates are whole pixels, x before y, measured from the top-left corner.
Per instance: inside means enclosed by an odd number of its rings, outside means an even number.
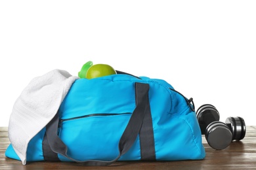
[[[196,114],[184,97],[168,88],[159,82],[150,83],[156,159],[203,159],[205,150]]]

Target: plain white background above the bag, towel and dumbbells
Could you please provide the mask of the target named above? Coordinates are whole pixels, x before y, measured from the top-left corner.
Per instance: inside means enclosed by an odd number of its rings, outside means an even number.
[[[33,77],[91,60],[256,125],[256,1],[0,1],[0,126]]]

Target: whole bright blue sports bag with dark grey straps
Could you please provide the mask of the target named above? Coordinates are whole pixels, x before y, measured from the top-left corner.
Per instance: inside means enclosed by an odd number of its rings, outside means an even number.
[[[165,80],[117,73],[75,80],[53,120],[28,144],[27,161],[205,158],[192,99]],[[12,144],[6,156],[20,160]]]

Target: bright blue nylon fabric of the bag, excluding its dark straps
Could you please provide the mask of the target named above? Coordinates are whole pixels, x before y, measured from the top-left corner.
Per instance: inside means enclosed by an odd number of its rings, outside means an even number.
[[[154,142],[154,158],[157,161],[205,158],[196,113],[190,109],[184,97],[170,90],[169,88],[173,89],[173,87],[165,80],[144,76],[139,79],[131,75],[75,80],[60,105],[59,120],[56,124],[56,134],[68,148],[66,154],[78,161],[109,161],[119,155],[119,140],[136,108],[136,83],[148,84],[150,87],[148,101],[152,128],[148,126],[146,128],[152,129],[153,135],[149,136],[154,137],[150,142],[151,144]],[[81,117],[87,115],[95,116]],[[140,129],[140,133],[142,131]],[[28,161],[44,160],[42,149],[44,136],[45,128],[30,141]],[[137,135],[133,140],[135,141],[130,148],[124,147],[126,153],[118,159],[119,161],[147,159],[143,156],[145,155],[143,139],[141,140]],[[7,148],[6,156],[16,159],[11,145]],[[73,161],[61,154],[58,154],[58,159]],[[149,159],[153,160],[153,156],[149,156]]]

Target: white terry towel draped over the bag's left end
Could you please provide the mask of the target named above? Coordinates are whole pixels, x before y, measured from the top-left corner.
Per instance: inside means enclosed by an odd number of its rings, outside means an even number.
[[[9,139],[23,165],[26,164],[28,143],[51,121],[77,78],[67,71],[55,69],[33,78],[14,103]]]

